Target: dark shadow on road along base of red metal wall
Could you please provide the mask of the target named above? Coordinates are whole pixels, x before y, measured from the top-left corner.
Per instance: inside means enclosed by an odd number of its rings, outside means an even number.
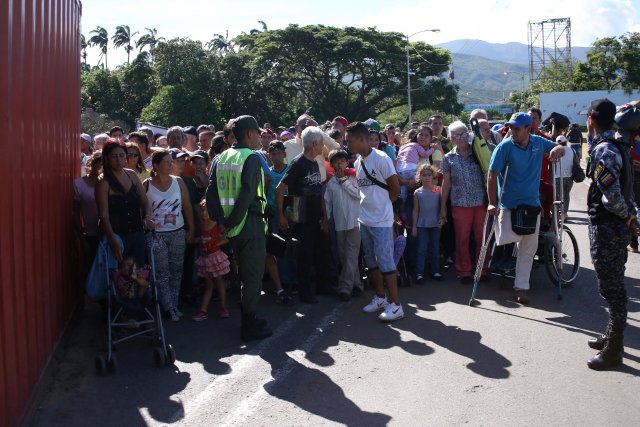
[[[172,396],[187,387],[190,374],[156,368],[151,340],[118,345],[116,372],[98,376],[94,360],[105,354],[105,334],[106,314],[99,304],[85,303],[54,353],[48,396],[31,426],[146,425],[149,418],[171,423],[184,412]]]

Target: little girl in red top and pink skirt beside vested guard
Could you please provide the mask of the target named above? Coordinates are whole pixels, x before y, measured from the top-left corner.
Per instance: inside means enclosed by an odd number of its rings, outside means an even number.
[[[200,203],[200,213],[202,220],[200,221],[200,256],[196,260],[198,268],[198,277],[205,279],[204,293],[202,294],[202,303],[200,310],[192,317],[195,322],[201,322],[209,317],[207,308],[213,295],[213,284],[215,283],[220,299],[220,307],[218,308],[218,317],[229,317],[226,303],[226,291],[222,277],[229,273],[229,258],[220,250],[220,246],[227,243],[227,239],[220,232],[218,224],[209,218],[206,202]]]

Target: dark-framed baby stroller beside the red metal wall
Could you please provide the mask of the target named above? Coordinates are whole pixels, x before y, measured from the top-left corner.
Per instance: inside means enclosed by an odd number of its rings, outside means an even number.
[[[117,237],[118,242],[122,241]],[[155,242],[155,233],[153,235]],[[116,346],[135,337],[150,337],[153,342],[153,357],[158,367],[173,365],[176,361],[176,353],[171,344],[166,341],[164,327],[162,325],[162,313],[158,302],[156,289],[155,260],[151,252],[151,268],[149,288],[142,296],[132,298],[123,297],[118,292],[114,278],[118,271],[118,262],[111,250],[106,237],[100,241],[98,255],[94,262],[104,274],[103,295],[107,299],[107,352],[99,354],[95,359],[96,370],[100,375],[115,372],[118,362],[113,353]],[[89,276],[91,278],[91,276]],[[95,288],[95,284],[92,285]],[[87,282],[87,288],[89,282]],[[88,292],[89,293],[89,292]],[[91,293],[89,293],[91,296]],[[96,290],[92,292],[96,296]]]

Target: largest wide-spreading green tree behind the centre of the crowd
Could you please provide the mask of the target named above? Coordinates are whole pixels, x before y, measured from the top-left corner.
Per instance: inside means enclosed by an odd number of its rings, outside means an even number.
[[[400,33],[290,25],[234,42],[239,53],[252,58],[247,65],[253,84],[269,99],[286,96],[300,106],[296,113],[308,110],[320,119],[340,113],[358,120],[407,103],[407,42]],[[448,68],[448,51],[412,43],[411,61],[415,109],[462,109],[455,87],[439,77]]]

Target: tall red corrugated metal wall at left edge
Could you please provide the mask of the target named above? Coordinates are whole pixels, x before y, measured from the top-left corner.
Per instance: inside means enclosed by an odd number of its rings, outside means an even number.
[[[79,292],[78,0],[0,1],[0,425],[24,414]]]

